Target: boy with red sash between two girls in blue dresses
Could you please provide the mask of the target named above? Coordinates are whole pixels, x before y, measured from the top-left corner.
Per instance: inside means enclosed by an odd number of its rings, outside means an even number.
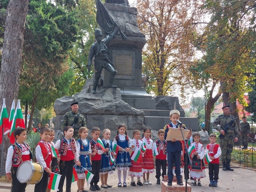
[[[98,186],[98,182],[100,181],[101,154],[104,153],[104,149],[102,149],[101,146],[97,145],[97,140],[100,134],[101,134],[100,128],[98,127],[92,128],[91,135],[93,139],[90,141],[90,143],[91,143],[91,149],[92,149],[92,173],[94,176],[90,182],[91,191],[101,190],[101,188]]]

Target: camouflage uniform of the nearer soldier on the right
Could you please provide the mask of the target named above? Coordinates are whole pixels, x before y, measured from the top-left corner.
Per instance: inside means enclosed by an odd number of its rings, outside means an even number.
[[[223,130],[226,125],[229,124],[229,122],[234,119],[232,115],[226,116],[226,115],[219,115],[217,119],[215,119],[212,123],[213,128],[215,128],[217,131]],[[217,125],[220,125],[218,127]],[[235,130],[228,129],[224,135],[224,138],[220,139],[220,148],[221,148],[221,161],[231,161],[231,153],[234,146],[234,137],[238,138],[238,129],[236,125],[236,121],[231,125],[235,128]],[[221,134],[221,133],[220,133]],[[226,163],[226,162],[225,162]]]

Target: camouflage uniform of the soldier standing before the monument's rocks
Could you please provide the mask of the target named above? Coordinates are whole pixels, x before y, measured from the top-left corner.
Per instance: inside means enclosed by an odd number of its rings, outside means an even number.
[[[63,118],[61,119],[61,129],[65,126],[73,126],[75,117],[79,114],[79,112],[74,113],[73,111],[65,113]],[[86,127],[85,117],[80,113],[77,123],[74,125],[74,138],[77,140],[78,138],[78,130],[79,128],[75,128],[76,126]]]

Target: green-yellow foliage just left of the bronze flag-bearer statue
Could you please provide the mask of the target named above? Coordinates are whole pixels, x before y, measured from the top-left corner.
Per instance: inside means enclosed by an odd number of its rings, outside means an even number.
[[[70,50],[70,68],[73,71],[73,81],[70,86],[69,95],[73,95],[81,91],[88,77],[92,73],[88,73],[86,65],[88,63],[88,54],[90,46],[94,42],[94,30],[97,28],[96,23],[96,6],[95,0],[80,0],[80,6],[76,7],[78,19],[78,40],[72,45]]]

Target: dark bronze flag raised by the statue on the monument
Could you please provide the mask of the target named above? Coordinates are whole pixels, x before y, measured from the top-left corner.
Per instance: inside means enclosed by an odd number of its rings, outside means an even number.
[[[100,0],[96,0],[96,22],[100,25],[100,27],[107,32],[107,34],[111,34],[115,27],[117,26],[114,19],[109,14],[108,10],[105,8],[103,3]],[[123,34],[121,30],[119,30],[121,37],[123,40],[127,39],[127,37]]]

